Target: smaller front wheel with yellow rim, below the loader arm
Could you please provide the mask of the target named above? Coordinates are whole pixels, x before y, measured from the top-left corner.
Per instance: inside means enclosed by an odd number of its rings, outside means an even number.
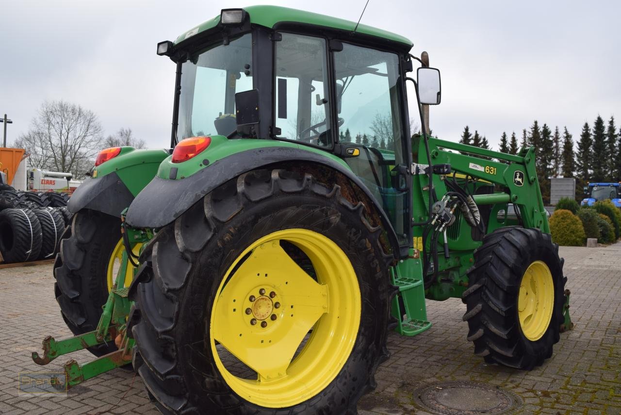
[[[532,274],[533,264],[548,271]],[[532,281],[527,279],[527,271],[534,275]],[[558,245],[552,243],[549,234],[522,227],[497,229],[486,235],[474,252],[474,267],[468,270],[468,278],[469,288],[462,297],[467,309],[463,319],[468,322],[468,340],[474,342],[476,355],[488,363],[524,370],[551,357],[564,321],[567,278],[563,277]],[[542,301],[524,319],[526,310],[520,305],[520,296],[524,298],[526,281],[537,288],[537,298]],[[533,330],[530,322],[537,319],[540,327]]]

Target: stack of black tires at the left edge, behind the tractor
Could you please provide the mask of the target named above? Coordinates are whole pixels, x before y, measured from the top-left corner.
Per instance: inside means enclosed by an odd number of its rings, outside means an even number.
[[[6,263],[53,259],[71,222],[66,193],[0,185],[0,254]]]

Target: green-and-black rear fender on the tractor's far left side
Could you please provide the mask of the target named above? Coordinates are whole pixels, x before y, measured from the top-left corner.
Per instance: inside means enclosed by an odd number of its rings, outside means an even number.
[[[94,168],[91,177],[78,186],[69,199],[69,210],[91,209],[120,217],[166,157],[166,150],[122,147],[117,157]]]

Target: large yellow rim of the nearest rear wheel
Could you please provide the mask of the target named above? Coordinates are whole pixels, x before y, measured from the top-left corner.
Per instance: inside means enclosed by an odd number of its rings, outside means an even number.
[[[281,241],[306,254],[316,281]],[[215,364],[230,388],[252,403],[299,404],[324,390],[347,362],[360,309],[356,273],[337,244],[306,229],[274,232],[245,249],[222,278],[210,322]],[[219,355],[223,348],[255,378],[229,372]]]

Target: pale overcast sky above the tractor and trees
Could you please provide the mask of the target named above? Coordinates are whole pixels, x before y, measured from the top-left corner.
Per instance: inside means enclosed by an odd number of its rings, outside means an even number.
[[[259,2],[265,3],[265,2]],[[360,1],[271,1],[356,21]],[[27,131],[45,100],[91,109],[106,134],[134,130],[149,147],[170,140],[175,65],[156,43],[240,4],[215,1],[2,1],[0,117],[8,141]],[[621,2],[379,1],[362,22],[405,35],[442,72],[430,125],[458,140],[464,125],[497,148],[503,131],[537,119],[582,124],[600,114],[621,124]]]

